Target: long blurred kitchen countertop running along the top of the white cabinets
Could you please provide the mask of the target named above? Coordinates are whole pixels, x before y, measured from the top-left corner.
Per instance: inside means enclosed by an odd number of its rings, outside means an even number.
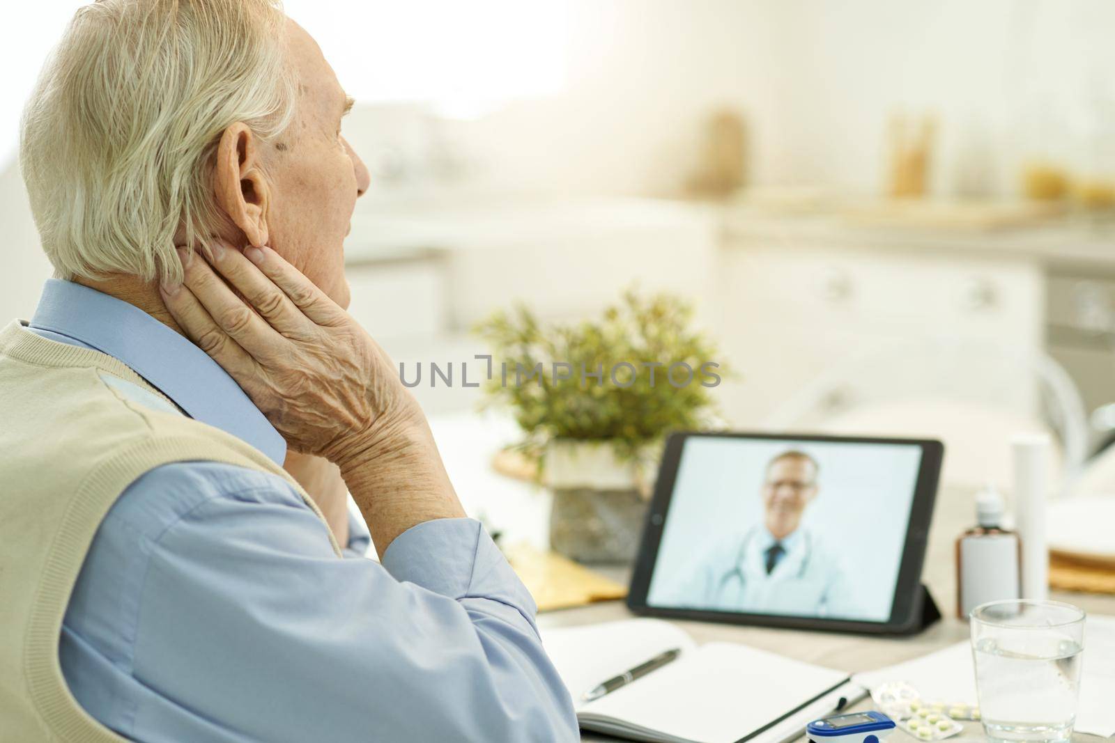
[[[885,207],[820,215],[778,215],[746,205],[611,197],[588,199],[488,199],[406,203],[358,211],[346,241],[349,263],[427,258],[507,245],[527,247],[541,235],[574,243],[586,236],[706,226],[723,244],[840,247],[917,252],[941,257],[1038,262],[1049,268],[1103,270],[1115,274],[1115,224],[1072,218],[1032,225],[971,224],[929,227],[890,218]]]

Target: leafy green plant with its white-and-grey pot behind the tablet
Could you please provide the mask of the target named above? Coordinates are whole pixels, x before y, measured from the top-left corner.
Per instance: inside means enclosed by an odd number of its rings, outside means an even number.
[[[542,323],[520,304],[477,326],[515,447],[553,491],[551,547],[584,563],[634,557],[662,440],[707,426],[725,369],[679,297],[631,290],[599,321]]]

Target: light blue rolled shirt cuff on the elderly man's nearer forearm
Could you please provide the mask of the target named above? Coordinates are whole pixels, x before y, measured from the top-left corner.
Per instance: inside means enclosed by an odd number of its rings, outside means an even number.
[[[531,622],[537,613],[507,558],[475,519],[434,519],[413,526],[387,548],[382,565],[396,580],[449,598],[497,600]]]

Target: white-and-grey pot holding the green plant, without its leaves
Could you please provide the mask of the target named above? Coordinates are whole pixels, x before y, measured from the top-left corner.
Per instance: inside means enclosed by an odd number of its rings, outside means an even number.
[[[579,563],[633,561],[650,504],[646,471],[617,459],[607,441],[552,442],[544,470],[553,492],[550,547]]]

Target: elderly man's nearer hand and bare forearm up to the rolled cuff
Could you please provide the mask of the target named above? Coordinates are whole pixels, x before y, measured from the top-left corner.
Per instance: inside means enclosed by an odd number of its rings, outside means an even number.
[[[340,467],[379,554],[416,524],[464,516],[420,408],[371,336],[273,250],[212,248],[212,267],[180,248],[185,283],[162,287],[167,311],[292,449]]]

